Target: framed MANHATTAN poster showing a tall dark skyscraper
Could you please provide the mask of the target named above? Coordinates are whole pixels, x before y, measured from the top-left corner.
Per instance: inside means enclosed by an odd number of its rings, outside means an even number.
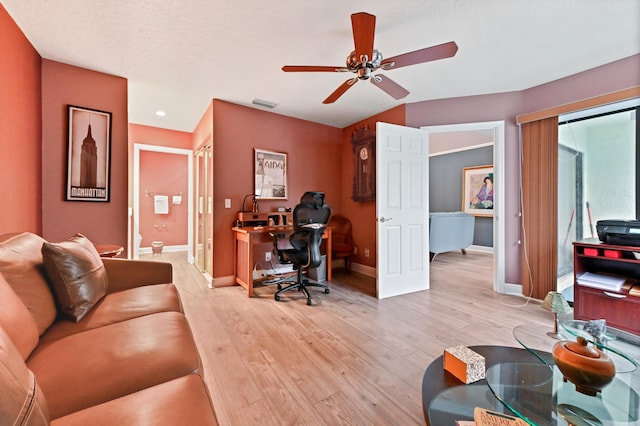
[[[109,201],[111,113],[68,106],[67,201]]]

